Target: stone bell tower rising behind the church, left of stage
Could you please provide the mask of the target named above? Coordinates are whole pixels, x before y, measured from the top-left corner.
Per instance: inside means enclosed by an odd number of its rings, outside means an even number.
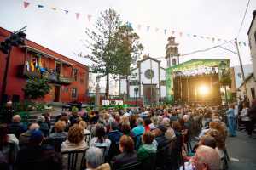
[[[175,42],[175,37],[168,37],[166,45],[166,61],[167,68],[179,64],[178,43]]]

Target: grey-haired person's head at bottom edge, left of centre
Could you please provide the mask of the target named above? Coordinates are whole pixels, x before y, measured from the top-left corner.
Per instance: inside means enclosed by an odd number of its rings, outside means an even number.
[[[86,170],[110,170],[108,163],[103,162],[102,150],[96,147],[91,147],[86,150]]]

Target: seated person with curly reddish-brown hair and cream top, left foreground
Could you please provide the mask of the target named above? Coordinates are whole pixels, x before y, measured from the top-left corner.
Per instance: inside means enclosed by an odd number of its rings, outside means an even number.
[[[84,129],[78,124],[70,127],[67,133],[67,140],[61,144],[61,151],[85,150],[88,145],[84,141]]]

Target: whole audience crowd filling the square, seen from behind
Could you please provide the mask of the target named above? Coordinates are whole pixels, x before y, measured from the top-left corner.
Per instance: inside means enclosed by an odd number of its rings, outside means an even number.
[[[0,169],[68,169],[71,152],[80,153],[77,169],[228,169],[233,108],[229,128],[218,105],[74,110],[56,116],[54,125],[49,114],[27,125],[15,115],[0,125]]]

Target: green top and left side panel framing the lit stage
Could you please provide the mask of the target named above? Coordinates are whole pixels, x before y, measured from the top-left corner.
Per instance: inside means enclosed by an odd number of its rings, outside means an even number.
[[[187,71],[191,75],[205,73],[204,68],[216,68],[223,61],[226,67],[230,67],[230,59],[192,59],[180,65],[174,65],[166,69],[166,99],[168,102],[174,102],[173,77],[178,71]]]

